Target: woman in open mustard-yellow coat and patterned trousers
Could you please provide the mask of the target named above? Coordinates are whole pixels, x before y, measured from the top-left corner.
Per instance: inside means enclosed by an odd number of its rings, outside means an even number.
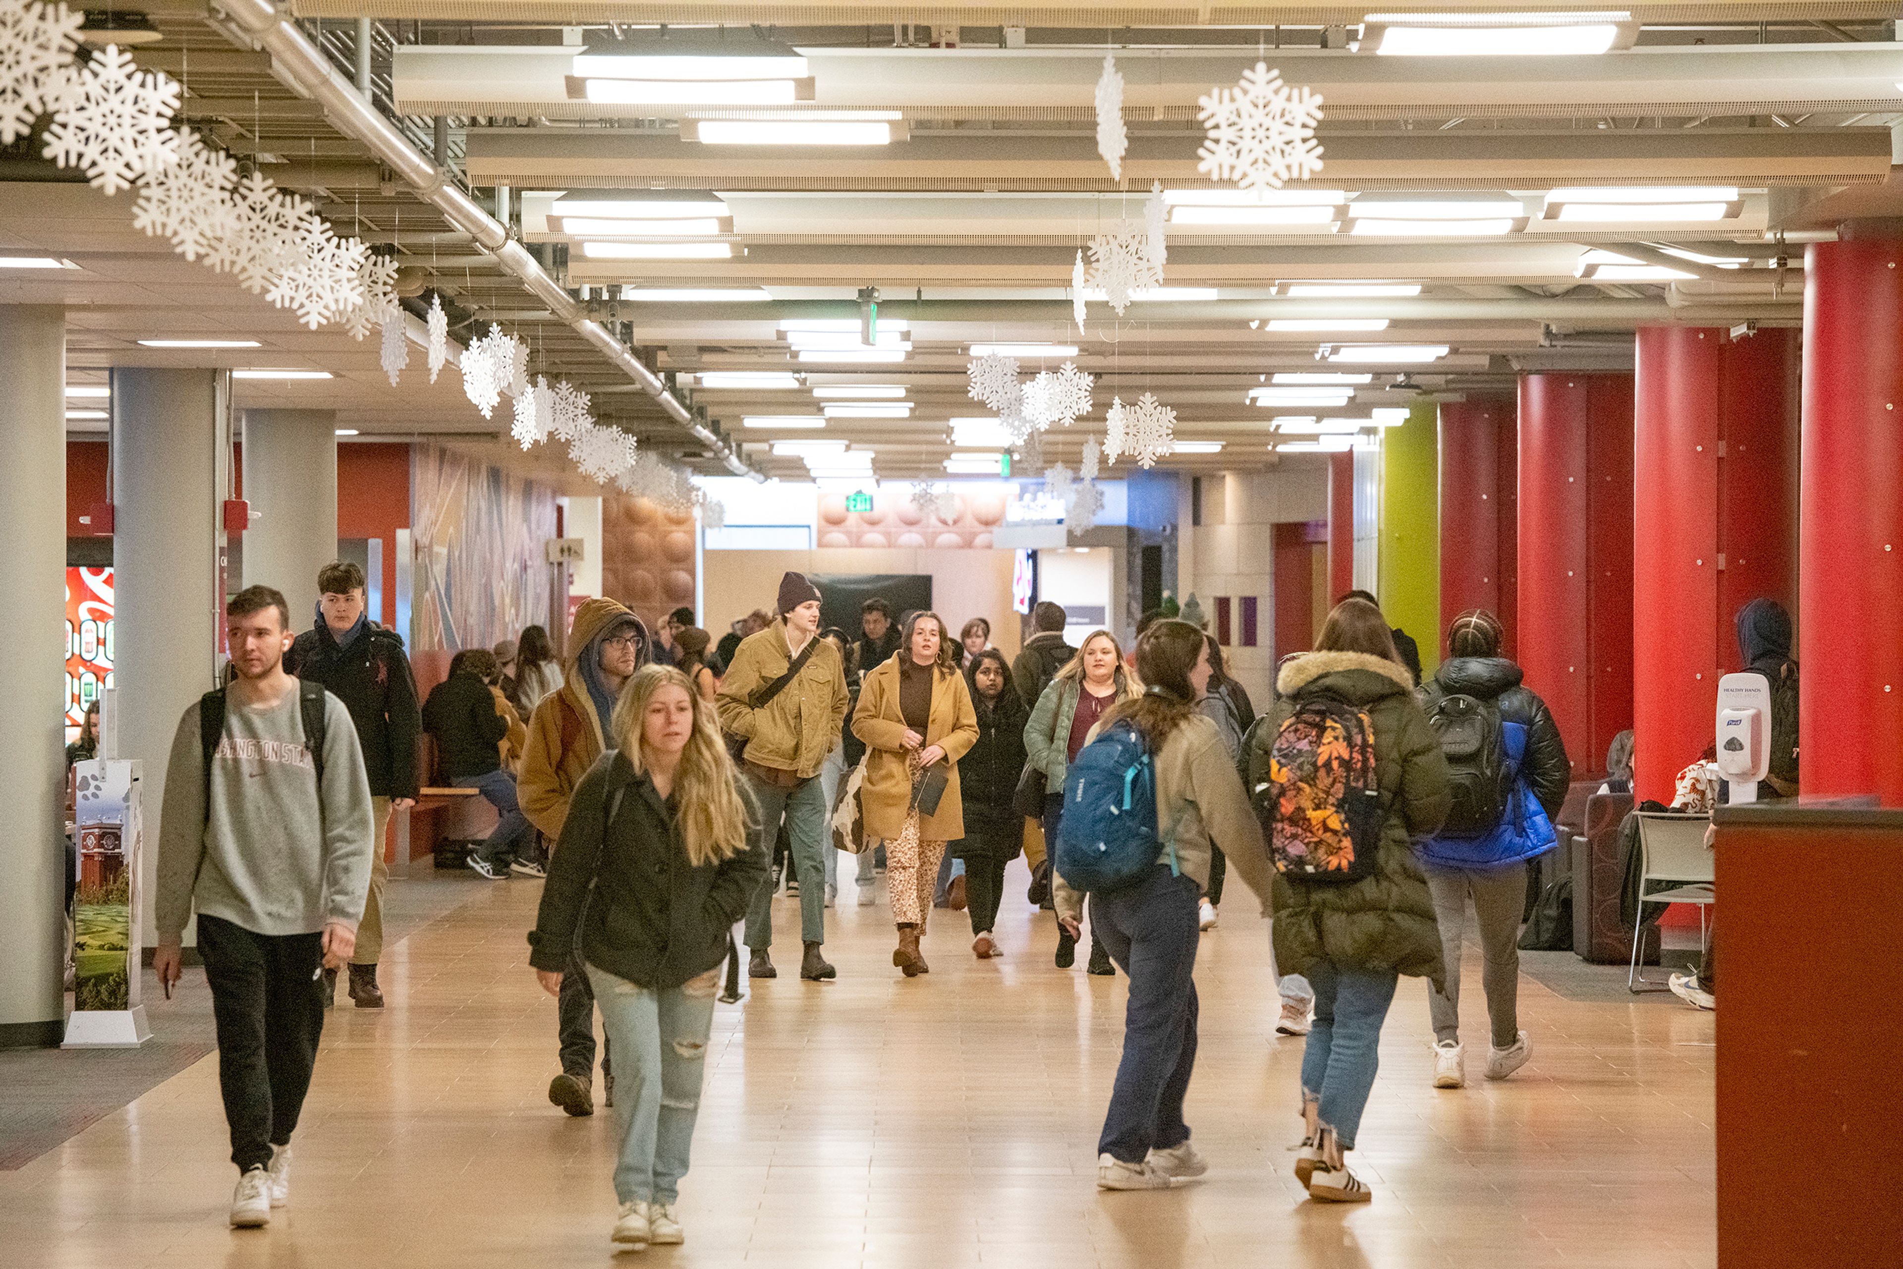
[[[913,613],[893,658],[866,674],[853,713],[853,734],[866,742],[866,841],[885,841],[885,885],[898,925],[893,965],[906,978],[931,968],[919,955],[919,934],[946,843],[965,835],[957,759],[978,742],[978,715],[950,643],[936,613]],[[921,814],[912,791],[934,767],[950,769],[946,788],[938,809]]]

